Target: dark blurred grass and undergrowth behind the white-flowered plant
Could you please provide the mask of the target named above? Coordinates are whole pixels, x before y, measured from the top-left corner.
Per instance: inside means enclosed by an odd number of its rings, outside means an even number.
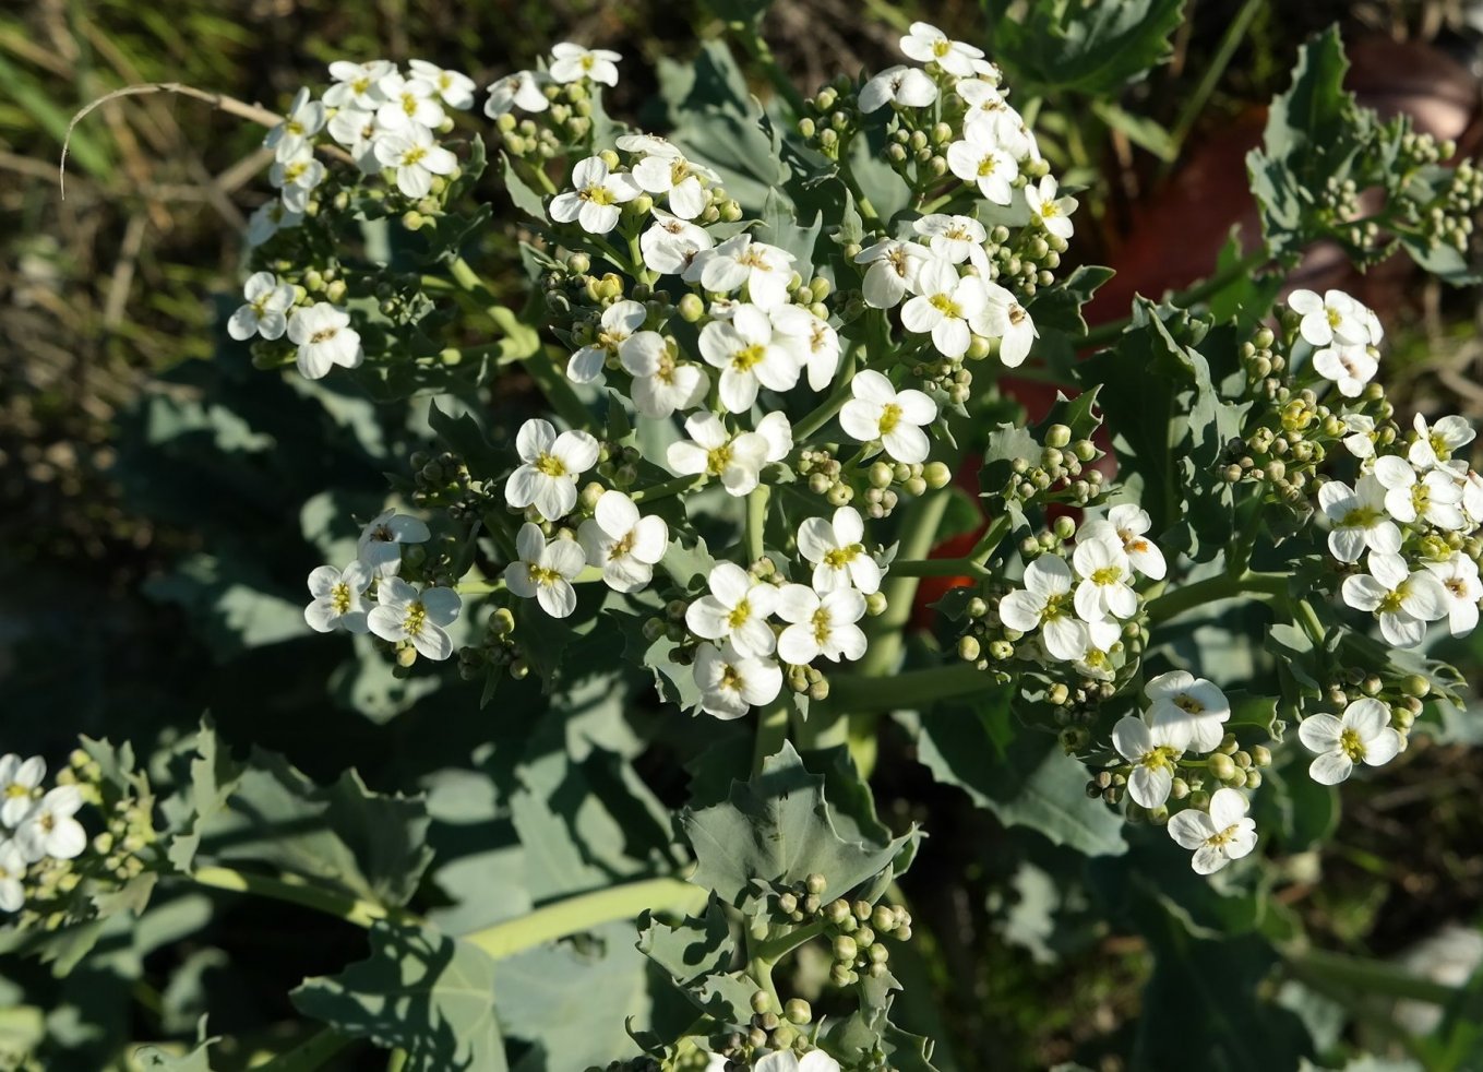
[[[1470,24],[1470,13],[1443,0],[1191,0],[1173,62],[1117,110],[1046,101],[1047,151],[1089,187],[1075,254],[1124,273],[1103,314],[1124,313],[1134,291],[1158,294],[1200,277],[1232,225],[1253,225],[1241,156],[1298,44],[1333,21],[1344,27],[1355,61],[1351,87],[1363,102],[1410,111],[1439,136],[1476,148],[1483,19]],[[983,39],[979,7],[962,0],[785,0],[764,30],[813,92],[833,73],[894,62],[896,39],[914,18]],[[131,83],[181,82],[276,110],[300,85],[322,82],[338,58],[421,56],[488,85],[571,39],[623,52],[623,83],[608,110],[633,117],[645,111],[660,56],[684,59],[721,33],[722,15],[698,0],[0,7],[0,750],[55,755],[77,732],[168,735],[209,709],[236,740],[285,750],[311,774],[354,762],[372,784],[394,784],[397,741],[435,731],[426,719],[380,725],[328,704],[323,719],[304,725],[288,712],[319,703],[323,660],[294,645],[222,649],[191,626],[196,589],[179,578],[205,583],[190,572],[202,552],[219,556],[230,544],[251,557],[260,549],[268,587],[298,599],[317,560],[300,543],[303,500],[331,483],[374,500],[387,463],[334,436],[313,457],[265,460],[252,436],[286,443],[322,420],[319,402],[252,374],[245,360],[214,365],[222,308],[215,297],[239,286],[243,221],[270,196],[262,130],[165,93],[111,101],[73,133],[62,200],[56,160],[77,108]],[[755,90],[770,92],[761,80]],[[1385,265],[1367,282],[1350,279],[1321,252],[1302,271],[1309,285],[1357,288],[1382,311],[1400,406],[1483,415],[1476,294],[1443,294]],[[1111,307],[1118,300],[1121,310]],[[261,421],[236,430],[205,421],[202,436],[145,457],[157,442],[159,399],[209,409],[222,393]],[[394,454],[400,436],[386,442]],[[236,457],[214,469],[202,451]],[[251,479],[236,476],[243,466]],[[280,543],[288,550],[270,550]],[[1453,654],[1477,681],[1479,652]],[[288,663],[297,691],[277,676]],[[292,695],[264,694],[262,682]],[[897,744],[909,747],[905,735]],[[1123,1048],[1146,974],[1140,940],[1047,888],[1041,847],[962,807],[921,767],[882,765],[875,789],[890,821],[931,817],[933,851],[908,884],[914,913],[930,921],[919,979],[908,979],[914,1028],[936,1033],[934,1019],[946,1025],[964,1068],[1072,1057],[1096,1066]],[[1293,857],[1281,900],[1330,947],[1355,952],[1397,955],[1444,924],[1473,927],[1483,906],[1480,796],[1483,752],[1418,743],[1385,778],[1345,786],[1338,842],[1321,861]],[[1047,942],[1053,919],[1059,944]],[[303,949],[292,924],[245,907],[217,940],[268,990],[351,958],[356,936]],[[176,967],[150,962],[145,979]],[[217,1005],[228,1001],[200,998],[227,1030],[233,1017]],[[145,1026],[135,1035],[159,1032],[147,1023],[148,1004],[136,1010]],[[1384,1045],[1387,1023],[1387,1014],[1375,1017],[1366,1041]]]

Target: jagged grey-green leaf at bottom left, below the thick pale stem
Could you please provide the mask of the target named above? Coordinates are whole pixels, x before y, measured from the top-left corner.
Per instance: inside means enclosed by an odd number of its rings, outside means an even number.
[[[494,959],[432,927],[371,928],[371,956],[289,998],[335,1030],[406,1053],[408,1072],[504,1072]]]

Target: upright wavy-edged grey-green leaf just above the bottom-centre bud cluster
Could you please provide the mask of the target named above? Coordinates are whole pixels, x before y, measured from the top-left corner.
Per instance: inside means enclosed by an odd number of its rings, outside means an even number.
[[[696,851],[691,881],[740,906],[759,887],[820,873],[830,900],[891,866],[921,836],[914,827],[890,841],[842,838],[823,784],[785,743],[756,777],[731,783],[725,804],[687,810],[679,824]]]

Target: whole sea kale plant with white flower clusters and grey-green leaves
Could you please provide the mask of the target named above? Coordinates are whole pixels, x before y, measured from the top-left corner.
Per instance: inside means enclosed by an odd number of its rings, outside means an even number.
[[[485,90],[368,56],[303,89],[225,329],[411,449],[316,522],[359,538],[283,636],[399,689],[377,721],[475,682],[418,732],[504,771],[518,844],[460,881],[443,783],[319,784],[211,721],[148,762],[83,740],[50,781],[0,761],[10,947],[77,970],[191,885],[369,928],[292,993],[322,1030],[282,1069],[354,1039],[408,1069],[986,1068],[899,1016],[933,814],[882,820],[869,775],[909,750],[1142,934],[1134,1068],[1317,1054],[1259,983],[1352,965],[1305,961],[1266,894],[1333,833],[1330,786],[1459,718],[1427,651],[1477,624],[1483,477],[1467,421],[1387,399],[1382,320],[1283,277],[1329,242],[1471,282],[1483,176],[1358,110],[1321,36],[1249,160],[1262,233],[1089,329],[1112,273],[1035,117],[1140,77],[1178,4],[1072,7],[1000,55],[918,22],[808,98],[743,21],[771,102],[710,42],[661,68],[663,136],[604,107],[632,58],[572,43]],[[681,764],[670,813],[647,781]],[[139,1060],[206,1069],[211,1033]]]

